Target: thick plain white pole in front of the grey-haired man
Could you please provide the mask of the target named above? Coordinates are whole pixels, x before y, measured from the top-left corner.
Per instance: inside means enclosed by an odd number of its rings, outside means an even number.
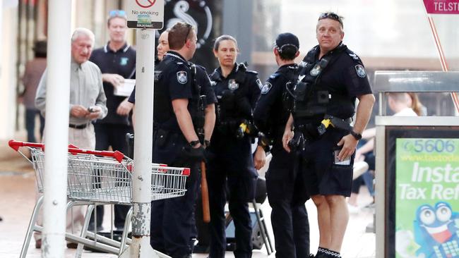
[[[42,257],[64,257],[71,0],[49,0]]]

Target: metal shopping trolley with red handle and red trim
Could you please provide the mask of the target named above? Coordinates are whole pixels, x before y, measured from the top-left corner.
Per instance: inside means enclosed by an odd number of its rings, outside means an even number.
[[[35,170],[37,188],[39,192],[44,192],[44,145],[40,143],[18,142],[15,140],[10,140],[8,145],[26,159],[28,157],[21,152],[20,147],[26,147],[30,150],[30,163]],[[93,151],[79,149],[73,145],[68,146],[67,209],[73,205],[88,205],[81,235],[77,236],[66,233],[66,240],[78,242],[77,257],[81,256],[83,245],[114,254],[121,254],[123,252],[126,243],[128,243],[126,232],[127,228],[129,228],[129,223],[131,223],[130,217],[132,211],[129,211],[128,216],[126,216],[121,242],[97,235],[96,232],[89,232],[88,224],[90,214],[96,203],[132,204],[131,173],[133,167],[133,160],[118,151]],[[183,196],[186,192],[186,178],[189,174],[189,168],[175,168],[165,164],[152,164],[151,199],[158,200]],[[20,257],[25,257],[33,231],[42,232],[42,227],[35,225],[37,213],[41,206],[42,197],[37,200],[34,211],[32,212]]]

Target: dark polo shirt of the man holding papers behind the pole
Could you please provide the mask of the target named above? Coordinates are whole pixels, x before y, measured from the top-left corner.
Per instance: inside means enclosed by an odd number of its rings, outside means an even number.
[[[102,73],[114,73],[121,75],[123,78],[135,78],[134,72],[136,69],[136,50],[128,44],[124,47],[113,51],[108,47],[108,43],[100,48],[95,49],[91,54],[90,61],[99,66]],[[126,97],[115,96],[114,86],[110,82],[103,82],[105,95],[107,96],[108,114],[104,119],[97,123],[115,123],[129,125],[128,116],[120,116],[117,114],[119,104]]]

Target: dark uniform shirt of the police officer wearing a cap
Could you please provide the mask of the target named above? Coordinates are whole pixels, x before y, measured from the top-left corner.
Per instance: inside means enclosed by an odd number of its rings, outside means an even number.
[[[294,80],[297,64],[280,66],[270,75],[261,89],[254,110],[255,125],[262,133],[274,138],[282,147],[282,134],[290,112],[284,107],[283,97],[287,82]]]

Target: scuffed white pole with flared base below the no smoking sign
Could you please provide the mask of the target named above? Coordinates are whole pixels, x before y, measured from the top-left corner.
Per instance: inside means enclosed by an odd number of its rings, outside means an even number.
[[[138,29],[136,59],[136,133],[132,177],[132,244],[121,257],[157,257],[150,246],[151,163],[153,147],[153,72],[155,30]],[[129,255],[129,256],[127,256]]]

